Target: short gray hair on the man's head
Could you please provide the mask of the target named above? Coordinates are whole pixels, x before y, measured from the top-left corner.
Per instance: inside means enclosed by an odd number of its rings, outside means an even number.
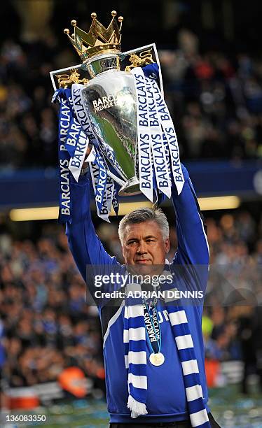
[[[123,245],[123,239],[125,234],[125,228],[127,224],[136,224],[142,222],[156,222],[162,231],[163,240],[165,241],[170,234],[170,227],[167,222],[167,217],[160,208],[153,210],[153,208],[138,208],[135,211],[131,211],[123,217],[119,223],[118,236],[121,244]]]

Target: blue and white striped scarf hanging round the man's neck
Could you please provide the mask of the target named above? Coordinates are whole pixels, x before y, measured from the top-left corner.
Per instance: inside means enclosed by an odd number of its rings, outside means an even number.
[[[134,293],[135,290],[141,292],[141,285],[129,284],[126,287],[127,295],[128,292]],[[211,428],[202,395],[198,362],[186,312],[184,308],[178,306],[175,300],[170,302],[170,299],[165,299],[165,301],[166,303],[168,301],[165,309],[181,361],[191,425],[198,428]],[[129,392],[127,408],[131,411],[131,418],[137,418],[147,414],[146,328],[142,299],[135,297],[125,299],[123,341]]]

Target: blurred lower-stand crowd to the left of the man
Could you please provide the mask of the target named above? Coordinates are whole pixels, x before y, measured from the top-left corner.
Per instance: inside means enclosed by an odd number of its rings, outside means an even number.
[[[104,369],[97,309],[87,305],[64,231],[51,227],[36,243],[2,235],[0,245],[3,378],[11,386],[34,385],[78,366],[99,383]]]

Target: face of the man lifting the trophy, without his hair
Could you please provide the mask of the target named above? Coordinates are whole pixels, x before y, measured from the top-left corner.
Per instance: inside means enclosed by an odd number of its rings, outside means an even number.
[[[163,234],[154,220],[127,224],[123,238],[125,264],[136,266],[140,273],[150,273],[152,265],[163,266],[165,255],[170,250],[170,240]]]

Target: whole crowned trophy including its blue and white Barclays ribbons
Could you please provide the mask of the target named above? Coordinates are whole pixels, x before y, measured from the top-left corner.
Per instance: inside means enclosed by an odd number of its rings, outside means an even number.
[[[106,221],[112,206],[118,213],[118,195],[142,192],[153,202],[170,198],[172,183],[178,194],[184,185],[155,45],[121,52],[123,17],[117,19],[115,10],[111,15],[106,28],[92,13],[88,32],[72,20],[74,33],[64,33],[83,64],[50,72],[53,102],[60,104],[61,222],[71,220],[70,176],[77,182],[84,162],[97,215]]]

